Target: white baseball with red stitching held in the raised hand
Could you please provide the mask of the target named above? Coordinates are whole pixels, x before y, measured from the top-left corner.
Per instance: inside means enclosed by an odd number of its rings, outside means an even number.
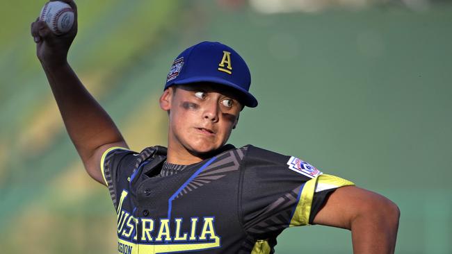
[[[62,1],[50,1],[42,7],[39,19],[45,21],[56,35],[63,35],[74,24],[74,10]]]

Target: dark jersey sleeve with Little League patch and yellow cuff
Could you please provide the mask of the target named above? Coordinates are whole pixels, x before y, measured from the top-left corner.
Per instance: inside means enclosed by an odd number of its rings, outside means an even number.
[[[354,185],[298,158],[254,146],[248,147],[242,168],[243,227],[256,239],[311,224],[334,189]]]

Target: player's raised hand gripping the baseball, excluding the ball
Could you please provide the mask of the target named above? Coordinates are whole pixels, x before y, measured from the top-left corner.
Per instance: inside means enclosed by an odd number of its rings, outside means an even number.
[[[51,0],[56,1],[56,0]],[[67,51],[77,33],[77,7],[72,0],[60,0],[69,4],[74,10],[74,24],[70,31],[63,35],[55,35],[49,26],[39,17],[31,23],[31,36],[36,43],[36,55],[45,67],[63,65],[67,61]]]

